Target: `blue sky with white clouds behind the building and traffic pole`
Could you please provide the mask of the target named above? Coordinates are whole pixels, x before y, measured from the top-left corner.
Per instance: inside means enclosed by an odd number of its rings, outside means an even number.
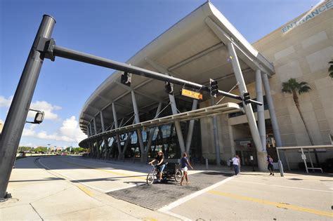
[[[56,20],[58,46],[126,62],[204,0],[0,0],[0,122],[4,123],[42,15]],[[253,43],[318,4],[319,0],[212,0]],[[114,71],[55,58],[44,60],[32,109],[44,122],[25,124],[20,146],[78,147],[84,102]],[[34,114],[30,113],[28,119]]]

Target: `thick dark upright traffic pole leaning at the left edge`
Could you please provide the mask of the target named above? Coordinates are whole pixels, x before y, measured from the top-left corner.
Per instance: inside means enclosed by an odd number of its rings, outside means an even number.
[[[6,189],[27,113],[29,112],[32,95],[34,95],[34,88],[45,58],[44,51],[39,51],[39,43],[41,43],[41,39],[51,37],[54,25],[55,20],[51,16],[43,16],[4,123],[0,138],[0,201],[11,197],[10,194],[6,193]]]

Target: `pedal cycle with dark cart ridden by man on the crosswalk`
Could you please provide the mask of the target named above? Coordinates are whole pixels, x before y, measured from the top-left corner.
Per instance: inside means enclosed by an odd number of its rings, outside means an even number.
[[[165,163],[165,168],[164,171],[162,173],[162,180],[166,181],[166,180],[170,180],[171,178],[174,178],[174,180],[176,182],[181,182],[181,178],[183,176],[183,173],[181,172],[181,170],[176,169],[176,168],[171,168],[171,165],[169,165],[168,167],[168,163]],[[152,171],[150,171],[150,173],[148,173],[147,175],[147,184],[148,185],[152,185],[154,183],[154,180],[157,180],[157,178],[159,178],[159,170],[157,169],[156,165],[152,165]]]

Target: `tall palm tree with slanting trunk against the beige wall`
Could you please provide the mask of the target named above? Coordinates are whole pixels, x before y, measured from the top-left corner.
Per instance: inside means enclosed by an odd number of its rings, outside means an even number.
[[[332,65],[331,65],[331,67],[332,67]],[[289,79],[287,82],[282,83],[282,92],[292,93],[292,98],[294,99],[296,108],[299,111],[299,116],[301,116],[301,120],[303,121],[303,124],[306,128],[306,133],[308,133],[308,126],[306,126],[306,123],[303,118],[303,114],[301,112],[301,108],[299,107],[299,97],[297,96],[297,92],[299,93],[299,95],[301,93],[308,93],[311,90],[311,88],[307,84],[308,83],[306,83],[304,81],[299,83],[296,81],[296,79]],[[308,138],[310,139],[311,145],[314,145],[310,133],[308,133]],[[319,166],[318,154],[315,149],[313,149],[313,152],[315,153],[315,161],[316,161],[317,165]]]

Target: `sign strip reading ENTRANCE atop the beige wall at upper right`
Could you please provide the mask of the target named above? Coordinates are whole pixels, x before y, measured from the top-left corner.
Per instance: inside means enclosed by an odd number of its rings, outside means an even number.
[[[315,7],[314,7],[315,8]],[[304,22],[307,22],[308,20],[311,20],[315,18],[315,16],[320,15],[321,13],[328,11],[329,8],[333,8],[333,2],[332,0],[327,1],[325,4],[322,4],[320,7],[315,8],[315,10],[311,10],[308,13],[306,13],[303,17],[299,18],[298,20],[295,20],[285,27],[282,27],[281,31],[282,33],[289,32],[291,29],[294,29],[294,27],[297,27]]]

